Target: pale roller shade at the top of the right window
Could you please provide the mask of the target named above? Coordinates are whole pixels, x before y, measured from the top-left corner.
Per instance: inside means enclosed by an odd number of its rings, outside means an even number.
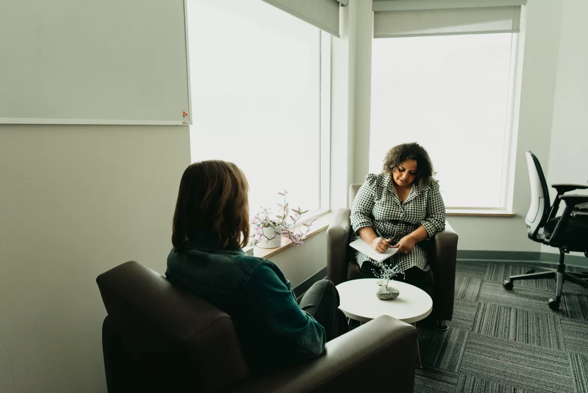
[[[519,32],[520,11],[520,6],[377,11],[373,16],[373,36],[392,38]]]

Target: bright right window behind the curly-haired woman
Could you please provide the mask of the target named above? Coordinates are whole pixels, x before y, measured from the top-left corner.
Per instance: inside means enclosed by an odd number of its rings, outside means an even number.
[[[375,39],[370,172],[387,149],[416,141],[448,208],[506,208],[516,37]]]

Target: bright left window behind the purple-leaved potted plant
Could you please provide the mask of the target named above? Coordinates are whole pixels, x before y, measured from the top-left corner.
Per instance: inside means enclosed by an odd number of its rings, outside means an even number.
[[[189,0],[188,27],[192,161],[235,162],[250,215],[328,209],[329,36],[260,0]]]

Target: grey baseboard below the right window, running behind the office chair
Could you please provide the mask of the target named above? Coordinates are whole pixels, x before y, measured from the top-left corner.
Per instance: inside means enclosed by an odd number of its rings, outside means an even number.
[[[457,259],[467,261],[471,261],[472,259],[480,259],[484,261],[513,261],[530,262],[536,264],[553,264],[559,262],[559,254],[532,251],[457,250]],[[578,257],[577,255],[566,255],[566,265],[587,268],[588,258]]]

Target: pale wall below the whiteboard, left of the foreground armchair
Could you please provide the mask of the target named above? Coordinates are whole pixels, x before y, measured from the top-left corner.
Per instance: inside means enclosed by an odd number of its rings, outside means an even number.
[[[165,272],[188,127],[0,125],[0,392],[106,391],[95,278]]]

